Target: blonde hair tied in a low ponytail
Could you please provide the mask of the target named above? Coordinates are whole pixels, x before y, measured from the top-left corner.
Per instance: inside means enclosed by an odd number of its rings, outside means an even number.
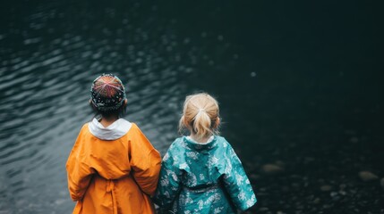
[[[218,134],[218,101],[206,93],[188,95],[183,104],[180,131],[187,128],[200,141]]]

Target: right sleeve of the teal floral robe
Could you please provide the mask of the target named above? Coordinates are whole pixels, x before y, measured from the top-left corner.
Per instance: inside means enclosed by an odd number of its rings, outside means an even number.
[[[237,209],[247,210],[257,202],[250,180],[243,169],[242,162],[230,144],[227,144],[223,181],[226,193],[228,193]]]

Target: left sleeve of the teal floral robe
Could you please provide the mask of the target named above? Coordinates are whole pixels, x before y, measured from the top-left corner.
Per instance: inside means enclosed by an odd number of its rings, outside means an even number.
[[[182,171],[175,166],[173,146],[171,145],[161,163],[158,189],[153,198],[154,202],[163,209],[170,209],[181,188]]]

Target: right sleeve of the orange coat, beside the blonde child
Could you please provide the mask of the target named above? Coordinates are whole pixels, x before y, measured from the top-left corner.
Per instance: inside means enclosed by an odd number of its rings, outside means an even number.
[[[135,124],[130,141],[129,157],[132,176],[141,191],[153,195],[158,185],[158,174],[161,167],[160,153],[150,144],[146,136]]]

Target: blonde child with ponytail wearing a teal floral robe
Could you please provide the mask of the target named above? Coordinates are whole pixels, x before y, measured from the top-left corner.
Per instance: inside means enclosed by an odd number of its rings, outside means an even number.
[[[163,158],[154,201],[173,213],[236,213],[256,202],[252,185],[232,146],[218,128],[218,103],[207,94],[187,96],[181,127]]]

